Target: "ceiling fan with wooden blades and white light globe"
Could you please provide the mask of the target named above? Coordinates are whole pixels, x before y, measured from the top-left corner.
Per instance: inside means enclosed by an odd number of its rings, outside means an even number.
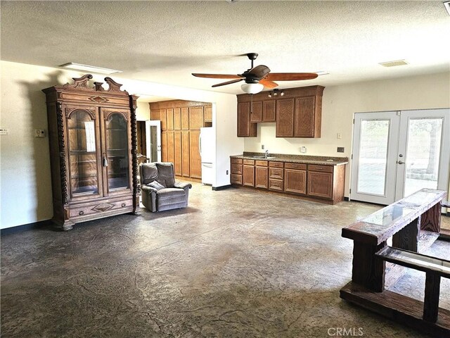
[[[318,75],[316,73],[270,73],[269,67],[266,65],[253,66],[253,61],[258,57],[257,53],[247,54],[252,66],[250,69],[245,70],[242,74],[201,74],[192,73],[196,77],[208,77],[213,79],[233,79],[226,82],[213,84],[212,87],[220,87],[226,84],[232,84],[245,80],[245,84],[241,86],[244,92],[248,94],[257,94],[266,88],[275,88],[278,84],[274,81],[297,81],[297,80],[311,80],[315,79]]]

